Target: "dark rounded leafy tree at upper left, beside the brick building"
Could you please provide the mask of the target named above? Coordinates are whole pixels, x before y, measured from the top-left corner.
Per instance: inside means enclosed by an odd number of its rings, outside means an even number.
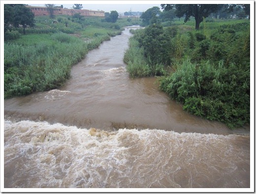
[[[30,8],[25,7],[23,4],[17,4],[14,6],[14,18],[13,24],[15,27],[19,27],[19,25],[23,26],[23,33],[25,34],[25,28],[28,26],[34,26],[34,14],[30,10]]]

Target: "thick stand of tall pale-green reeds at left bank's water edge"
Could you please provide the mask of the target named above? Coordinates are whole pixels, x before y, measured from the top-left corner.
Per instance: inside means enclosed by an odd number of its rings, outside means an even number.
[[[4,43],[5,98],[62,85],[70,76],[71,66],[88,52],[85,42],[64,33],[30,37]]]

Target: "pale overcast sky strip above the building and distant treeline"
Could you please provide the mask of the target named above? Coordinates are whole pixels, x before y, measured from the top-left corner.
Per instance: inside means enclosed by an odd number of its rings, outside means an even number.
[[[32,2],[33,2],[33,4],[31,4],[31,3],[28,3],[28,4],[32,5],[32,6],[45,6],[45,4],[34,3],[34,1],[32,1]],[[42,1],[40,1],[40,3],[41,2]],[[47,2],[49,2],[49,1],[47,1]],[[61,2],[61,1],[55,1],[55,2]],[[75,1],[73,1],[73,2],[75,2]],[[83,1],[83,2],[87,2],[87,1]],[[82,6],[83,6],[83,9],[102,10],[105,12],[117,11],[118,13],[124,13],[126,11],[129,11],[130,9],[131,9],[131,11],[143,12],[151,7],[154,7],[154,6],[160,7],[160,3],[159,4],[119,4],[118,2],[120,2],[120,1],[115,1],[116,2],[115,4],[98,4],[98,3],[86,4],[83,2],[80,2],[80,4],[82,4]],[[95,2],[97,2],[97,1],[95,1]],[[108,1],[105,1],[105,2],[108,2]],[[57,3],[51,3],[51,4],[55,4],[56,6],[63,5],[64,8],[71,8],[73,6],[73,4],[57,4]]]

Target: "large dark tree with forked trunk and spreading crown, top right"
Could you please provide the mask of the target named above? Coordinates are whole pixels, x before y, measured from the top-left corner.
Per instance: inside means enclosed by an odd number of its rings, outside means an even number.
[[[219,4],[161,4],[162,9],[175,9],[177,17],[185,15],[184,22],[186,23],[191,16],[195,19],[195,29],[199,29],[203,18],[207,18],[211,13],[214,13],[220,8]]]

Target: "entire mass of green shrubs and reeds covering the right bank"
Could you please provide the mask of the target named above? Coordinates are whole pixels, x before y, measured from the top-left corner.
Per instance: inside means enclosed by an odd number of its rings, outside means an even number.
[[[124,57],[130,77],[161,76],[160,89],[184,110],[230,129],[250,123],[250,20],[194,25],[194,19],[162,25],[153,16],[148,27],[131,31]]]

